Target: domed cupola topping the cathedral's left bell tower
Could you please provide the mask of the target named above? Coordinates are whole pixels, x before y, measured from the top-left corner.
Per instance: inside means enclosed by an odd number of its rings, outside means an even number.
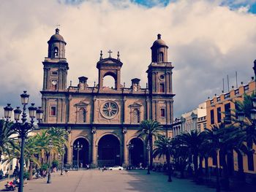
[[[65,45],[67,43],[59,34],[59,28],[56,28],[55,34],[48,41],[48,58],[65,58]]]

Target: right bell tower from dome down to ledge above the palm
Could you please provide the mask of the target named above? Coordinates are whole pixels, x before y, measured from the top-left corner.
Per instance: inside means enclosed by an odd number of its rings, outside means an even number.
[[[148,66],[148,91],[151,96],[151,118],[162,124],[173,121],[173,65],[167,60],[168,46],[157,35],[151,47]]]

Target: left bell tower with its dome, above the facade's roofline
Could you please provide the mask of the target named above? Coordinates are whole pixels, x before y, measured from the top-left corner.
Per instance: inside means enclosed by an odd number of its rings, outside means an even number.
[[[55,31],[48,41],[48,57],[42,62],[44,65],[42,91],[64,91],[67,88],[67,70],[69,69],[65,58],[67,43],[59,34],[59,28]]]

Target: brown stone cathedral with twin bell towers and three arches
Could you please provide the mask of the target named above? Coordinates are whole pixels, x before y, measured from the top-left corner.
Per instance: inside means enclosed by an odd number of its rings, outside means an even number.
[[[96,67],[98,82],[88,85],[87,77],[78,77],[78,85],[67,85],[69,64],[65,58],[67,43],[56,33],[48,41],[48,56],[43,64],[41,128],[51,126],[69,131],[69,146],[64,158],[71,166],[133,166],[146,165],[147,144],[138,138],[142,120],[159,121],[163,134],[171,137],[173,121],[173,65],[167,61],[168,46],[157,35],[151,47],[151,63],[146,74],[146,88],[140,79],[131,80],[131,86],[121,85],[119,58],[103,58],[100,54]],[[72,69],[72,65],[70,65]],[[92,67],[92,66],[88,66]],[[105,77],[115,80],[113,87],[105,86]],[[78,149],[78,143],[80,149]],[[130,148],[129,144],[133,147]],[[156,159],[157,160],[157,159]]]

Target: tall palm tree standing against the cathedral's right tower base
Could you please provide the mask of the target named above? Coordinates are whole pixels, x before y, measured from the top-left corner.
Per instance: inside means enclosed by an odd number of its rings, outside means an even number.
[[[140,129],[137,131],[138,137],[146,140],[146,143],[150,146],[150,167],[153,166],[153,139],[157,140],[161,137],[162,126],[157,120],[143,120],[140,123]]]

